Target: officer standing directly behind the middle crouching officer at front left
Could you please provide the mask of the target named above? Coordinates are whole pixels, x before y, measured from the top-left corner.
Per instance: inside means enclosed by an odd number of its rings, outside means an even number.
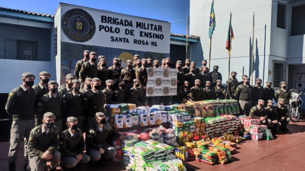
[[[78,79],[72,80],[73,90],[64,95],[64,120],[67,117],[73,116],[78,119],[78,128],[84,130],[84,106],[83,106],[83,93],[80,92],[80,81]],[[65,128],[67,124],[65,124]]]

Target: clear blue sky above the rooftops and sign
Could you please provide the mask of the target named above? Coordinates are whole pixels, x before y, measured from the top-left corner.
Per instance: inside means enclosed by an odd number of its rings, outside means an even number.
[[[170,21],[171,32],[186,34],[190,0],[1,0],[1,7],[55,14],[60,2]]]

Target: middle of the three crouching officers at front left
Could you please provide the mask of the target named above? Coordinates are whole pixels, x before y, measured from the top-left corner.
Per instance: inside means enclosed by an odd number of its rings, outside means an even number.
[[[63,171],[75,170],[78,163],[83,164],[90,161],[90,156],[84,153],[85,140],[83,132],[79,128],[79,120],[70,116],[67,118],[67,126],[68,128],[60,135],[58,148],[61,153],[60,161]]]

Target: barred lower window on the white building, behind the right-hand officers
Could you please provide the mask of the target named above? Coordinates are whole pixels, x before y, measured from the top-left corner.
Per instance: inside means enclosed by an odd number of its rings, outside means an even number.
[[[286,62],[282,60],[272,60],[273,63],[273,87],[280,87],[281,81],[286,81]]]

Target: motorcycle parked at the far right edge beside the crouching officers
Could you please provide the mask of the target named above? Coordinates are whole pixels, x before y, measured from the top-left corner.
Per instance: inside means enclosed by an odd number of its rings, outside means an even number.
[[[289,100],[289,118],[293,122],[299,120],[299,107],[303,103],[303,100],[300,98],[300,95],[303,95],[302,92],[298,92],[296,89],[290,90],[290,100]]]

